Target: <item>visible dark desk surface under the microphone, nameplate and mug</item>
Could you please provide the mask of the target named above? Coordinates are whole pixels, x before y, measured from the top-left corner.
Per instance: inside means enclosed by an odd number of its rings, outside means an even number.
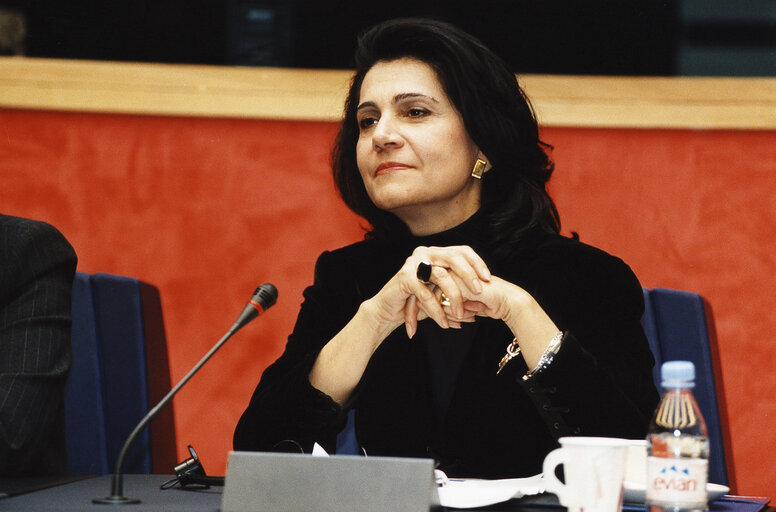
[[[49,487],[39,491],[0,499],[0,512],[219,512],[222,487],[210,489],[183,490],[179,488],[163,491],[159,486],[172,478],[170,475],[125,475],[124,495],[138,498],[138,505],[95,505],[94,498],[105,497],[110,490],[110,475],[78,480]],[[548,512],[563,511],[552,495],[528,497],[513,500],[483,509],[469,509],[470,512]],[[634,510],[628,508],[627,510]],[[752,503],[717,501],[710,512],[756,512],[771,507]]]

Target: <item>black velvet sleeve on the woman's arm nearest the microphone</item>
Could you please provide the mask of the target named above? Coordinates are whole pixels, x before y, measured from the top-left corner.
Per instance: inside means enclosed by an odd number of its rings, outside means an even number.
[[[323,346],[355,314],[357,299],[345,293],[343,273],[331,253],[315,265],[313,285],[305,289],[296,325],[281,357],[263,373],[234,434],[236,450],[274,451],[314,442],[334,450],[345,412],[331,397],[314,388],[308,375]],[[348,305],[354,305],[350,307]]]

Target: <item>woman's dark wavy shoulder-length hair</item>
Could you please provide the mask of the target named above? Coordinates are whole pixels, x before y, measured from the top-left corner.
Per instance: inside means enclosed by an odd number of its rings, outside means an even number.
[[[558,233],[560,218],[545,185],[554,165],[539,139],[533,108],[517,79],[479,40],[442,21],[405,18],[382,22],[359,39],[355,75],[332,151],[334,182],[345,204],[372,226],[368,236],[406,230],[369,199],[356,163],[356,108],[366,73],[380,61],[410,57],[430,65],[492,169],[482,180],[481,211],[487,240],[498,254],[512,252],[532,230]]]

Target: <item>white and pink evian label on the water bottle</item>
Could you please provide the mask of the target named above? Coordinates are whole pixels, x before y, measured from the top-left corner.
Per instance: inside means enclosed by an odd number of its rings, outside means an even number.
[[[706,503],[706,459],[647,458],[647,502]]]

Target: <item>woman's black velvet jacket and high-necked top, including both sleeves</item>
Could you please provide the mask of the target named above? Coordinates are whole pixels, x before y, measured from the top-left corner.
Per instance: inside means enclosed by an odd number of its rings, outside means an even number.
[[[237,425],[235,449],[272,450],[292,439],[307,451],[315,441],[333,450],[351,407],[366,453],[431,456],[451,476],[539,473],[564,435],[643,438],[658,394],[640,324],[643,294],[630,268],[545,233],[526,237],[508,261],[495,261],[482,242],[483,227],[475,215],[429,237],[371,239],[321,254],[285,352],[262,375]],[[513,337],[501,321],[478,319],[444,332],[424,320],[412,340],[403,328],[385,339],[347,408],[310,385],[321,348],[416,246],[461,244],[471,245],[494,275],[528,291],[566,332],[546,371],[524,382],[527,368],[515,358],[496,375]],[[457,347],[465,356],[429,357],[447,337],[453,338],[449,352]],[[447,394],[438,391],[444,382],[452,384]]]

